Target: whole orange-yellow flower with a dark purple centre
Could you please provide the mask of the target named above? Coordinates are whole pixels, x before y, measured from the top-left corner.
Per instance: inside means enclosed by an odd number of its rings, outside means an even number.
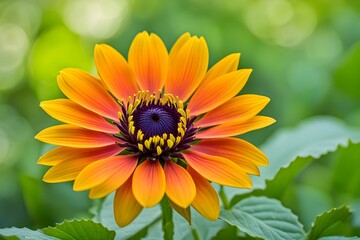
[[[203,37],[183,34],[168,53],[155,34],[139,33],[128,61],[112,47],[95,47],[99,78],[64,69],[57,82],[66,99],[41,102],[65,124],[36,139],[57,145],[38,163],[51,166],[49,183],[74,181],[90,198],[116,191],[114,215],[126,226],[167,196],[190,221],[190,205],[216,220],[219,199],[209,181],[251,188],[266,156],[239,138],[275,120],[257,116],[269,98],[236,96],[251,69],[237,70],[240,54],[208,69]]]

